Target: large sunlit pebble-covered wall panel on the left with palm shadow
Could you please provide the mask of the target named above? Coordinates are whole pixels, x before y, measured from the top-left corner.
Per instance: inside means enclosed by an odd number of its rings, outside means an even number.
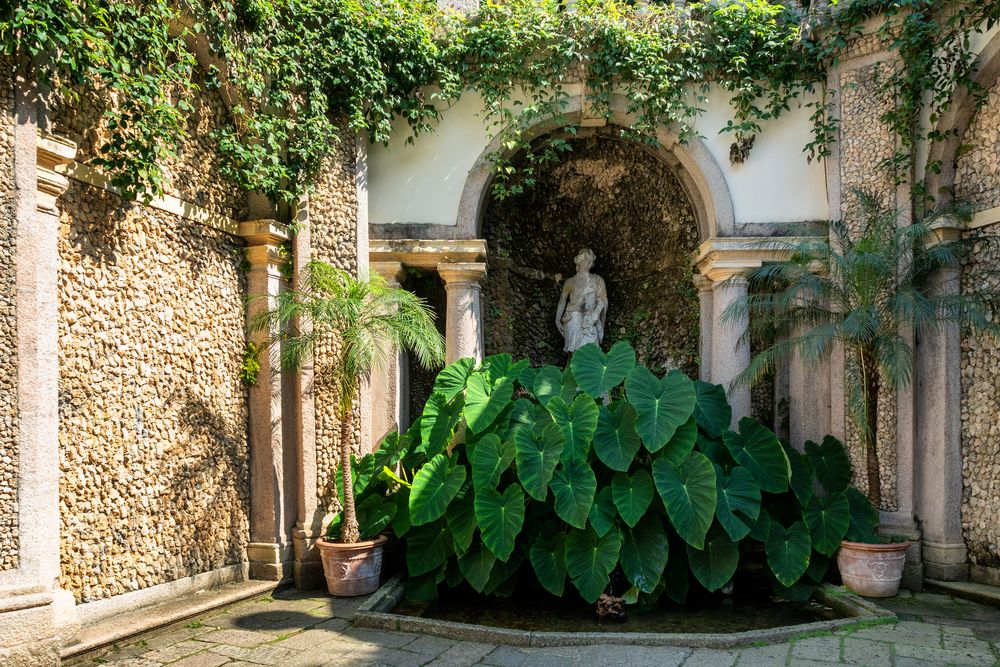
[[[209,138],[224,104],[193,103],[168,192],[241,216]],[[102,109],[57,108],[80,160]],[[60,207],[61,585],[88,602],[245,561],[242,241],[75,181]]]

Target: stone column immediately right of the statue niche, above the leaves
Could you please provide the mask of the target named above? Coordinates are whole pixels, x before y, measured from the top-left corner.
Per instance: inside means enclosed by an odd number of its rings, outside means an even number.
[[[740,276],[743,268],[711,268],[706,272],[712,281],[712,382],[726,388],[733,407],[733,427],[750,415],[750,387],[733,385],[733,378],[750,365],[750,344],[745,333],[746,317],[723,321],[729,306],[747,295],[747,281]]]

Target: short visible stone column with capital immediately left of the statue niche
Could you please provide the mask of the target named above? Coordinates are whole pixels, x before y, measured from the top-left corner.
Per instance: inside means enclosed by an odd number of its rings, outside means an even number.
[[[486,277],[483,262],[438,264],[438,274],[448,292],[445,325],[446,358],[483,359],[483,314],[479,303],[479,281]]]

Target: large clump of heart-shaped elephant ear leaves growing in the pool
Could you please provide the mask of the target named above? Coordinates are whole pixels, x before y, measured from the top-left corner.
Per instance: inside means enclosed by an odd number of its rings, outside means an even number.
[[[398,480],[393,526],[409,595],[520,582],[590,603],[681,602],[762,561],[780,594],[808,597],[874,512],[839,442],[800,453],[753,419],[731,430],[731,416],[721,386],[657,377],[626,343],[585,346],[565,369],[451,364],[401,436],[415,474]]]

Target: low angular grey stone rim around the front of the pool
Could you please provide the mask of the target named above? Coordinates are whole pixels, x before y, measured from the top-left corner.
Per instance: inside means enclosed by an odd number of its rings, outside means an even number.
[[[442,621],[420,616],[394,614],[406,592],[402,574],[397,574],[365,601],[353,617],[357,627],[413,632],[459,641],[475,641],[520,647],[593,646],[617,644],[623,646],[680,646],[687,648],[736,648],[757,643],[787,641],[803,634],[832,632],[858,623],[895,623],[896,614],[861,598],[840,586],[824,584],[814,593],[817,601],[845,615],[829,621],[813,621],[798,625],[783,625],[760,630],[732,633],[670,633],[670,632],[543,632],[517,630],[492,625]]]

